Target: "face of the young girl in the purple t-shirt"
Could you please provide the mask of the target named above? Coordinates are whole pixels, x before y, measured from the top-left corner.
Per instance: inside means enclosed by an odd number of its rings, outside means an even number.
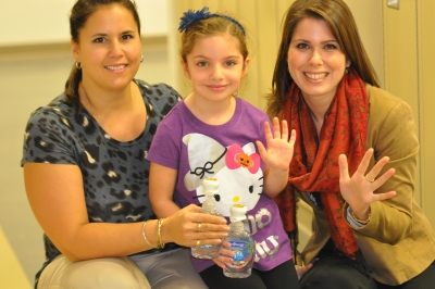
[[[229,35],[208,36],[196,40],[182,61],[186,77],[191,80],[195,97],[208,101],[227,99],[238,89],[248,71],[238,40]]]

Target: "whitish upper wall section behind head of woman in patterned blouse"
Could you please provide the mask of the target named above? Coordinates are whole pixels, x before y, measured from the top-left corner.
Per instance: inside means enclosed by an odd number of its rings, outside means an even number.
[[[144,35],[164,35],[166,0],[137,0]],[[69,41],[75,0],[0,0],[0,47]]]

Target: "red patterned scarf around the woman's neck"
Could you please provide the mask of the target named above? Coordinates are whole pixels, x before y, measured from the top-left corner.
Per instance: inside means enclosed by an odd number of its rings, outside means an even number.
[[[283,105],[282,117],[291,129],[296,129],[289,186],[275,198],[286,231],[290,236],[297,233],[295,188],[301,192],[320,192],[335,247],[357,261],[359,247],[352,229],[343,218],[338,155],[347,155],[350,175],[357,171],[364,155],[369,117],[364,83],[356,71],[345,74],[325,114],[320,143],[310,109],[295,84]],[[295,240],[293,244],[297,246]],[[296,252],[296,247],[293,250]]]

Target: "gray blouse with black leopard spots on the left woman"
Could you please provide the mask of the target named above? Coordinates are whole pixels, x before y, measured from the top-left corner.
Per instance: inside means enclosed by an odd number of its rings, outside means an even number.
[[[146,128],[135,140],[111,139],[84,106],[77,111],[75,105],[67,104],[64,93],[33,112],[26,126],[22,165],[29,162],[78,165],[89,222],[156,218],[148,199],[147,153],[158,124],[181,97],[164,84],[134,81],[148,113]],[[45,246],[47,265],[60,252],[47,236]]]

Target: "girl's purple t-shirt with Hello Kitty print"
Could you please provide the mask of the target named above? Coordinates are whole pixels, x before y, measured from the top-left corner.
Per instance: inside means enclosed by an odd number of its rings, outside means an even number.
[[[291,259],[291,248],[279,212],[273,199],[262,193],[263,164],[256,140],[265,144],[264,122],[268,115],[236,98],[233,117],[223,125],[199,121],[186,106],[178,104],[159,124],[148,160],[178,171],[175,202],[184,208],[201,204],[202,180],[217,178],[217,211],[227,219],[234,203],[248,209],[246,229],[256,240],[254,268],[269,271]],[[198,272],[212,261],[192,257]]]

